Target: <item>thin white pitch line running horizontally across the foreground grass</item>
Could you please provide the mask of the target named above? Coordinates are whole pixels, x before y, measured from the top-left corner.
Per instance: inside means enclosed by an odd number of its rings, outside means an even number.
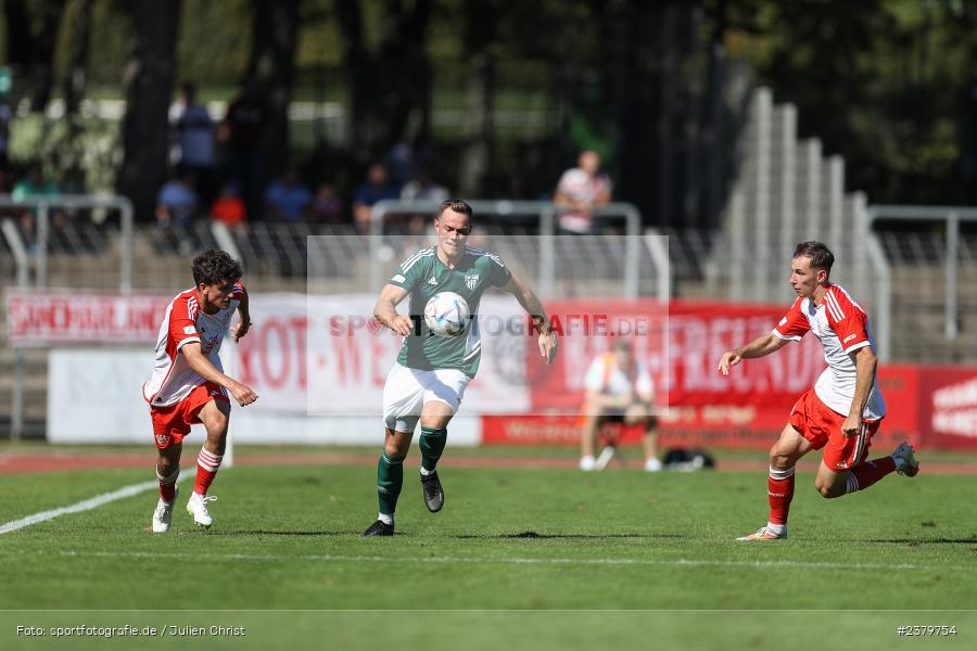
[[[60,553],[67,557],[107,557],[107,558],[172,558],[186,560],[211,561],[325,561],[325,562],[401,562],[401,563],[471,563],[505,565],[675,565],[691,567],[807,567],[807,569],[837,569],[837,570],[969,570],[975,565],[919,565],[913,563],[840,563],[832,561],[706,561],[697,559],[533,559],[533,558],[474,558],[474,557],[404,557],[394,558],[386,556],[334,556],[334,554],[252,554],[252,553],[218,553],[199,554],[180,552],[156,551],[60,551],[40,552]]]

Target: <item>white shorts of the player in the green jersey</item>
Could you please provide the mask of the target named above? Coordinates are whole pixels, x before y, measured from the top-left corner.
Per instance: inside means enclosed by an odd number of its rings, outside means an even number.
[[[471,378],[457,369],[421,371],[395,362],[383,385],[383,421],[390,430],[413,434],[421,410],[432,400],[457,412],[469,382]]]

